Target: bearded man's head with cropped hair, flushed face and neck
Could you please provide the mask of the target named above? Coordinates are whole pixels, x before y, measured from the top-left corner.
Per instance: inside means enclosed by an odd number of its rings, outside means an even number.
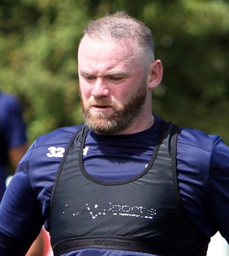
[[[162,67],[150,30],[117,12],[91,22],[79,44],[79,85],[85,123],[115,135],[152,124],[152,89]],[[132,129],[131,129],[132,128]]]

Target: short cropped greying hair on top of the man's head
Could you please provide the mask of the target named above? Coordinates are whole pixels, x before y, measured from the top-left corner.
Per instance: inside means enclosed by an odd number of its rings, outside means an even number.
[[[94,39],[110,38],[114,41],[133,39],[136,45],[144,51],[146,56],[154,60],[154,39],[152,32],[139,20],[129,16],[123,11],[108,14],[89,23],[85,28],[83,37],[88,35]]]

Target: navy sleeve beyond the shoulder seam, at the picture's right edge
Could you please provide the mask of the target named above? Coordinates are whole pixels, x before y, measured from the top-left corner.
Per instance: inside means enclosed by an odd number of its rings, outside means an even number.
[[[229,147],[222,139],[211,152],[206,202],[209,220],[229,243]]]

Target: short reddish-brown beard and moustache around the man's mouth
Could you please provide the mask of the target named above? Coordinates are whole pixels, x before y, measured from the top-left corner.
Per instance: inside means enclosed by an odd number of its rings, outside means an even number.
[[[79,92],[85,124],[89,129],[102,135],[115,135],[120,133],[129,127],[133,120],[140,114],[142,106],[146,102],[146,95],[146,87],[140,86],[136,94],[122,107],[115,102],[108,102],[105,97],[93,100],[93,102],[90,102],[90,104],[86,106],[83,102],[81,92]],[[90,108],[96,103],[111,106],[113,114],[109,117],[106,117],[103,113],[91,114]]]

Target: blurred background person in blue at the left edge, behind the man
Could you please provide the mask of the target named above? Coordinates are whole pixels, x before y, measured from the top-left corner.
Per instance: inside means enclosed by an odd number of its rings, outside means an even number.
[[[22,106],[14,95],[0,91],[0,202],[7,179],[28,150]],[[16,188],[15,188],[16,189]],[[38,236],[26,256],[43,256],[43,238]]]

